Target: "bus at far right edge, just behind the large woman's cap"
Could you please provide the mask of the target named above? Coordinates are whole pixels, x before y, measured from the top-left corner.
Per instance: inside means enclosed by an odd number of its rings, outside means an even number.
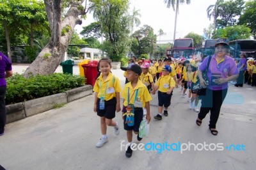
[[[256,40],[234,40],[229,42],[230,54],[234,58],[240,58],[240,52],[255,53]]]

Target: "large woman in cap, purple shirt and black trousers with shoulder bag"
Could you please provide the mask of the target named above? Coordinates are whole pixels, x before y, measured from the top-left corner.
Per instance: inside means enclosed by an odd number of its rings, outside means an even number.
[[[209,86],[205,86],[205,80],[202,72],[207,69],[209,56],[204,59],[198,68],[198,77],[202,87],[206,88],[206,93],[202,98],[202,106],[196,119],[196,125],[200,126],[206,114],[211,111],[209,129],[212,135],[217,135],[216,123],[219,118],[220,108],[227,95],[228,81],[235,80],[238,77],[238,69],[233,58],[227,56],[229,49],[228,41],[220,39],[215,45],[215,54],[212,55],[209,63],[207,77]]]

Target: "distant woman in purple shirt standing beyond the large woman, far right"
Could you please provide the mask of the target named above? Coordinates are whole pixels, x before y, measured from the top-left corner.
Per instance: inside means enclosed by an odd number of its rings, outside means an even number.
[[[243,87],[244,84],[244,72],[247,70],[247,63],[246,63],[246,58],[245,58],[245,53],[241,52],[240,56],[240,60],[239,63],[237,65],[237,68],[239,70],[239,77],[236,80],[236,87]]]

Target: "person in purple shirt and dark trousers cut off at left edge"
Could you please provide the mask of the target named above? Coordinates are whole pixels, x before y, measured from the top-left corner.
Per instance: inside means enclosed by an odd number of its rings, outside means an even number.
[[[0,52],[0,135],[4,134],[4,126],[6,123],[6,111],[5,111],[5,93],[6,93],[6,81],[5,78],[12,76],[12,63],[8,57],[4,56]]]

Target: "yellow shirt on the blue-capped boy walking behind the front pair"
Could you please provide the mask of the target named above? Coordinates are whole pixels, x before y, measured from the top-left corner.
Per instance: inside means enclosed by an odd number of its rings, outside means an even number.
[[[164,84],[168,84],[168,87]],[[170,87],[175,87],[175,81],[173,77],[169,75],[161,75],[161,77],[157,80],[156,86],[159,87],[159,91],[166,93],[169,91]]]

